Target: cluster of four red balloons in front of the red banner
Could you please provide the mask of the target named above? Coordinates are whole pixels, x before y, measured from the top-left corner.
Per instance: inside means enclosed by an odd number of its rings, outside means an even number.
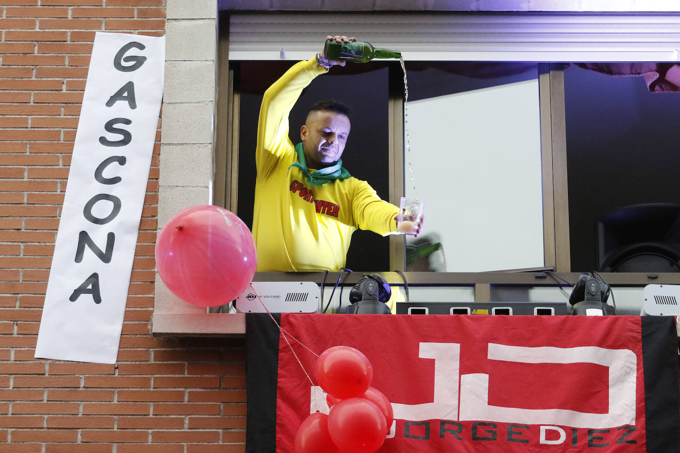
[[[371,387],[369,359],[350,346],[334,346],[319,356],[316,379],[328,396],[328,415],[316,412],[302,422],[295,453],[373,453],[385,441],[394,413],[387,397]]]

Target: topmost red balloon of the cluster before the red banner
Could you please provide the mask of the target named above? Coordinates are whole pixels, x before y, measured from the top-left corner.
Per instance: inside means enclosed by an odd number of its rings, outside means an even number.
[[[316,360],[316,379],[328,395],[338,399],[360,397],[373,380],[371,362],[360,350],[333,346]]]

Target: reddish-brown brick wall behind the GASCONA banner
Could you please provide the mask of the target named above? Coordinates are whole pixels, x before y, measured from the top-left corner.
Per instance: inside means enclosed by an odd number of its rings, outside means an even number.
[[[165,1],[0,12],[0,452],[242,452],[243,340],[150,335],[160,132],[118,363],[33,357],[95,31],[162,35]]]

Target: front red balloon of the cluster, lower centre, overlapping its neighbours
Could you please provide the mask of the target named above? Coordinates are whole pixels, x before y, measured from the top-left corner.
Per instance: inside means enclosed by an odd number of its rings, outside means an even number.
[[[328,433],[343,453],[373,453],[385,441],[387,422],[373,401],[343,399],[328,412]]]

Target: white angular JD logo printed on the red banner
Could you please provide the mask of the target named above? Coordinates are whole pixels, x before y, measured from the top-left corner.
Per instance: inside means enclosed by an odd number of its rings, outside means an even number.
[[[482,373],[460,375],[460,344],[420,343],[418,356],[421,359],[435,360],[435,390],[432,402],[420,404],[392,402],[395,419],[486,420],[589,429],[635,424],[637,357],[632,350],[607,349],[598,346],[556,348],[554,346],[488,344],[487,358],[490,360],[514,363],[594,363],[607,367],[609,411],[605,414],[557,408],[524,409],[490,405],[489,375]],[[459,377],[460,386],[458,385]],[[550,391],[549,386],[546,386],[545,391]],[[311,389],[312,412],[320,410],[328,413],[328,406],[324,404],[325,398],[318,397],[322,394],[320,387]],[[544,428],[562,431],[558,427]]]

